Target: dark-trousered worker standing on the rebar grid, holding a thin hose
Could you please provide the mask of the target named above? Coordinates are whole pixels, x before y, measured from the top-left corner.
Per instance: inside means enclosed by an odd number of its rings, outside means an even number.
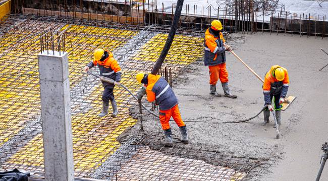
[[[104,117],[108,114],[108,106],[111,101],[113,113],[112,117],[116,117],[118,114],[117,104],[114,99],[113,89],[114,86],[120,84],[121,81],[121,67],[113,57],[113,53],[110,51],[103,51],[102,49],[96,49],[94,51],[94,59],[89,62],[84,70],[88,71],[90,68],[98,65],[100,76],[111,78],[115,80],[114,84],[101,81],[104,91],[102,92],[102,111],[98,114],[99,117]]]

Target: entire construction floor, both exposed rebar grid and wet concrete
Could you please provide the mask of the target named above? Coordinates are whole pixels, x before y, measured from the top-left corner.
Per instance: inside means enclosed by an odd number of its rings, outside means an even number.
[[[83,67],[101,46],[113,52],[123,70],[122,83],[134,94],[134,75],[150,71],[165,44],[168,26],[11,15],[0,26],[0,169],[44,171],[37,55],[39,36],[65,32],[69,55],[75,176],[110,180],[311,180],[327,137],[327,63],[321,40],[283,34],[230,34],[235,53],[259,75],[271,65],[289,70],[288,95],[297,96],[282,113],[281,139],[261,116],[249,123],[226,124],[254,116],[263,107],[262,83],[227,53],[229,83],[237,99],[213,98],[203,66],[204,31],[179,29],[162,65],[171,72],[190,143],[181,144],[172,123],[174,146],[163,145],[159,121],[144,113],[140,131],[137,102],[115,87],[119,114],[98,118],[102,86]],[[51,32],[51,33],[50,33]],[[51,52],[50,52],[51,53]],[[98,73],[97,69],[92,70]],[[169,79],[170,76],[166,76]],[[171,81],[170,81],[171,83]],[[217,91],[223,94],[221,84]],[[144,100],[145,103],[145,100]],[[151,104],[147,104],[151,108]],[[205,123],[192,123],[201,121]],[[215,122],[215,123],[209,123]],[[206,123],[208,122],[208,123]],[[272,122],[272,121],[271,121]],[[308,173],[306,175],[302,173]],[[268,174],[270,173],[270,174]],[[279,176],[279,177],[277,177]],[[326,172],[322,175],[327,177]],[[323,179],[324,180],[324,179]]]

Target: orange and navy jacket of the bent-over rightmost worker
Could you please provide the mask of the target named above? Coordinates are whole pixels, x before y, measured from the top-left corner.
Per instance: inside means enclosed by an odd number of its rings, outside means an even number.
[[[285,78],[283,81],[278,81],[273,75],[272,71],[276,68],[282,68],[285,72]],[[286,68],[279,65],[274,65],[265,74],[263,84],[263,95],[265,104],[271,104],[270,95],[279,95],[281,98],[286,98],[289,87],[289,77]]]

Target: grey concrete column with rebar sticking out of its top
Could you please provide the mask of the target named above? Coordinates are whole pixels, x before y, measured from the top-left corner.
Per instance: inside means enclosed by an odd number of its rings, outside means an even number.
[[[45,180],[74,180],[68,57],[38,55]]]

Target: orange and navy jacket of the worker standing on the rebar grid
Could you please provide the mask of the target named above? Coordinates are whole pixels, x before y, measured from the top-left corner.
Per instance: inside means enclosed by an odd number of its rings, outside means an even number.
[[[115,81],[121,81],[122,70],[118,62],[114,59],[113,53],[110,51],[104,51],[105,55],[108,57],[103,61],[94,60],[87,64],[89,68],[94,66],[98,66],[100,71],[100,76],[111,78]],[[103,85],[107,85],[109,83],[102,82]]]

